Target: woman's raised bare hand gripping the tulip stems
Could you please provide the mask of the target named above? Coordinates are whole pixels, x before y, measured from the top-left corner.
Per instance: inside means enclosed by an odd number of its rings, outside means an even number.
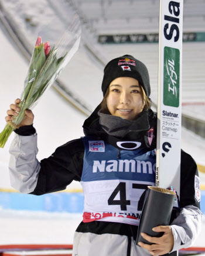
[[[18,112],[20,111],[20,108],[18,106],[19,103],[20,103],[20,99],[16,99],[15,104],[10,105],[10,109],[7,111],[8,116],[5,117],[6,122],[13,121],[13,116],[16,116],[16,117],[18,116],[19,114]],[[30,109],[25,110],[25,115],[26,115],[25,118],[23,118],[22,122],[20,122],[20,124],[18,125],[19,127],[33,124],[33,119],[34,119],[33,112]]]

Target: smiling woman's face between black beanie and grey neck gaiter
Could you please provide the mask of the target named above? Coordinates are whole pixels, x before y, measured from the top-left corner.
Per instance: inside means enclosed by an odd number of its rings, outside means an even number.
[[[139,82],[131,77],[118,77],[110,84],[107,107],[111,115],[134,120],[143,110]]]

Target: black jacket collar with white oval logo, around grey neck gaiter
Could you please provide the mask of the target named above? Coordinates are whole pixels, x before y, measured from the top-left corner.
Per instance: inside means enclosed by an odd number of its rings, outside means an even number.
[[[153,135],[149,137],[151,128]],[[86,136],[104,139],[118,149],[156,148],[156,114],[151,109],[143,111],[136,120],[128,121],[102,113],[100,104],[86,119],[83,129]]]

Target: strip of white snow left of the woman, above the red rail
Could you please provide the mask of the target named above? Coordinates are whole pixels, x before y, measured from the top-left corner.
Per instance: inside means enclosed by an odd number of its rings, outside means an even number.
[[[78,214],[0,211],[0,245],[73,244]]]

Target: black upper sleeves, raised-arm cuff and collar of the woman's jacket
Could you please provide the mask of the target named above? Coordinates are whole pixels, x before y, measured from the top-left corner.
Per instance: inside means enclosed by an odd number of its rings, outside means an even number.
[[[95,109],[93,114],[86,119],[83,128],[86,135],[94,136],[96,139],[104,139],[110,144],[117,147],[117,141],[136,141],[142,142],[142,147],[156,148],[156,113],[149,109],[141,115],[137,122],[124,127],[125,135],[123,138],[109,135],[99,122],[98,111],[100,105]],[[143,125],[142,125],[143,124]],[[147,132],[153,127],[154,138],[152,144],[148,144]],[[29,135],[35,133],[32,125],[29,127],[20,127],[15,131],[19,135]],[[110,132],[111,133],[111,132]],[[80,181],[83,171],[84,145],[81,138],[69,141],[60,146],[49,158],[40,162],[40,173],[35,190],[31,193],[34,195],[43,195],[46,193],[66,189],[73,180]],[[194,197],[194,177],[199,176],[197,165],[194,159],[181,151],[181,178],[180,178],[180,208],[186,205],[200,207]]]

